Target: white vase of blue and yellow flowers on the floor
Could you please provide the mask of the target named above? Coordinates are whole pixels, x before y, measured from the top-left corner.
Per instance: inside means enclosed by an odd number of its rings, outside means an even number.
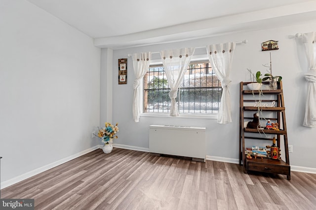
[[[116,125],[112,125],[111,123],[106,122],[104,128],[99,128],[98,136],[94,134],[94,136],[101,139],[104,143],[102,147],[104,153],[110,153],[113,149],[112,143],[113,139],[118,139],[118,123]]]

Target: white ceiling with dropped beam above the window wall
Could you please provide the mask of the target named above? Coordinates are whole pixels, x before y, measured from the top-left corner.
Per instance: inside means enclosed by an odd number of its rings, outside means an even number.
[[[28,1],[114,49],[316,19],[316,0]]]

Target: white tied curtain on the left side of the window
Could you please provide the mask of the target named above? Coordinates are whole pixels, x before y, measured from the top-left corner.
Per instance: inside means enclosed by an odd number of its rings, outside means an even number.
[[[152,53],[135,53],[132,55],[133,68],[135,74],[134,80],[134,98],[133,98],[133,118],[135,122],[139,121],[139,115],[141,110],[140,103],[140,80],[146,74]]]

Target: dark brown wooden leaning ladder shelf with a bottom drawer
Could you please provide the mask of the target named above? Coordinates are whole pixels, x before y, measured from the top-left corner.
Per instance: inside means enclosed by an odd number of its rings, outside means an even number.
[[[279,87],[277,90],[247,90],[244,88],[250,82],[240,82],[240,112],[239,112],[239,165],[243,165],[243,172],[246,173],[248,171],[258,171],[264,173],[273,173],[286,175],[287,179],[291,179],[290,175],[290,163],[289,163],[289,154],[288,154],[288,142],[287,142],[287,131],[286,131],[286,120],[285,120],[285,106],[284,106],[284,98],[283,98],[283,89],[282,82],[279,83]],[[279,130],[268,130],[268,129],[252,129],[245,128],[244,122],[248,120],[249,117],[245,116],[247,112],[257,111],[257,106],[249,106],[251,102],[255,102],[258,100],[260,94],[263,95],[274,95],[276,99],[274,100],[263,100],[265,102],[273,102],[276,101],[276,105],[272,107],[259,107],[260,111],[268,112],[268,113],[276,113],[277,117],[273,118],[279,124]],[[253,95],[253,100],[244,100],[245,95]],[[246,133],[251,133],[252,136],[245,136]],[[257,137],[254,137],[254,134],[258,134]],[[264,134],[264,135],[263,135]],[[245,155],[245,140],[253,141],[253,140],[269,140],[267,135],[276,135],[277,146],[280,147],[280,142],[283,140],[284,143],[284,153],[285,160],[273,160],[269,158],[252,158],[247,159]],[[256,136],[256,135],[255,135]]]

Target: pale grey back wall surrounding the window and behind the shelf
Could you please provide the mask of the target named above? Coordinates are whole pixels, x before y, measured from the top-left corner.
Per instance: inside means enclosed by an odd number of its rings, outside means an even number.
[[[315,21],[284,28],[115,50],[113,55],[113,123],[119,123],[119,134],[116,143],[148,148],[148,128],[151,124],[203,126],[206,127],[206,154],[213,157],[237,160],[239,135],[239,82],[249,81],[249,77],[246,78],[246,75],[248,75],[246,68],[250,68],[255,72],[257,70],[264,72],[267,68],[264,68],[262,65],[269,63],[269,52],[271,52],[273,73],[275,75],[283,76],[288,141],[289,144],[293,145],[293,153],[290,153],[290,164],[292,166],[297,166],[296,169],[299,167],[315,169],[316,128],[311,129],[301,126],[304,118],[306,92],[306,84],[303,74],[307,71],[307,65],[304,63],[304,60],[300,62],[298,58],[302,57],[305,52],[300,51],[302,45],[294,39],[296,33],[307,33],[311,31],[316,31]],[[180,47],[202,47],[206,44],[240,41],[243,39],[248,39],[248,43],[237,45],[231,73],[231,79],[233,80],[230,87],[233,111],[232,123],[221,125],[217,124],[214,119],[172,117],[141,117],[139,123],[133,121],[132,95],[134,73],[132,70],[132,59],[128,58],[127,62],[127,84],[118,85],[117,62],[119,58],[127,58],[128,54],[136,52],[158,52],[159,50]],[[280,49],[276,51],[262,52],[261,43],[271,39],[279,41]],[[266,143],[266,145],[269,143]],[[181,147],[181,145],[179,145],[179,147]]]

